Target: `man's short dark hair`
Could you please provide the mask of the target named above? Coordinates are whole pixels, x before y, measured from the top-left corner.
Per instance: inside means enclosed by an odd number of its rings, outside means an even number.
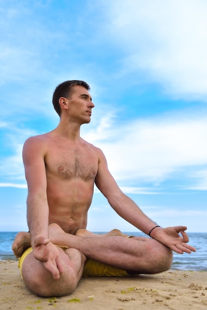
[[[59,105],[59,99],[60,97],[70,98],[72,95],[72,87],[73,86],[83,86],[87,89],[87,91],[90,90],[90,86],[84,82],[79,80],[72,80],[72,81],[65,81],[63,83],[60,83],[54,90],[53,96],[52,96],[52,104],[54,106],[55,111],[60,116],[61,109]]]

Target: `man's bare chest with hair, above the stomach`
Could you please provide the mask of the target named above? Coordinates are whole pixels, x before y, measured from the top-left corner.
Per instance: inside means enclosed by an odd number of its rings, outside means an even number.
[[[46,170],[62,179],[94,179],[98,171],[98,158],[90,148],[60,148],[52,150],[46,158]]]

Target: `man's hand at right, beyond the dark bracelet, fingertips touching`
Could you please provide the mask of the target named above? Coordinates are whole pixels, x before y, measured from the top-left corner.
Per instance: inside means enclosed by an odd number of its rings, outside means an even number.
[[[151,236],[174,252],[179,254],[186,252],[190,254],[191,252],[196,252],[196,249],[187,244],[189,238],[185,232],[186,229],[186,226],[174,226],[166,228],[157,227],[152,231]],[[179,233],[181,233],[182,236],[179,235]]]

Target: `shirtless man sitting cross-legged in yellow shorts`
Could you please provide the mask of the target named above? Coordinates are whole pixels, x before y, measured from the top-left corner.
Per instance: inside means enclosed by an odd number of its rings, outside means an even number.
[[[80,137],[94,107],[89,90],[77,80],[58,85],[52,100],[58,126],[29,138],[23,148],[30,233],[19,233],[12,249],[21,256],[25,283],[41,296],[72,293],[82,275],[162,272],[171,266],[172,250],[196,251],[187,245],[187,227],[157,226],[121,192],[103,152]],[[152,238],[126,238],[118,230],[103,236],[88,232],[94,184],[121,217]]]

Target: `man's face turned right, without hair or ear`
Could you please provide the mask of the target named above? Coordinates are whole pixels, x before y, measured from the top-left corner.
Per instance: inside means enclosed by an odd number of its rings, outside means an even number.
[[[95,106],[92,102],[90,93],[85,87],[73,86],[72,94],[68,103],[68,115],[71,120],[80,122],[81,124],[89,123],[91,121],[92,108]]]

